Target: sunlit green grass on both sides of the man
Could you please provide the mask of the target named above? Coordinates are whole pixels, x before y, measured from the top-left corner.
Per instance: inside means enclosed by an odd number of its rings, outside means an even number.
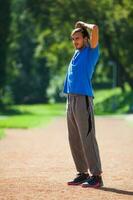
[[[133,92],[127,90],[123,93],[119,88],[95,91],[94,105],[96,115],[131,113]],[[56,117],[64,115],[65,103],[9,106],[0,111],[0,128],[45,126]]]

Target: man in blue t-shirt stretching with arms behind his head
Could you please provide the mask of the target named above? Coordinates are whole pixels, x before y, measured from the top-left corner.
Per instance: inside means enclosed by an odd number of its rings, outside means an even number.
[[[95,137],[94,96],[91,85],[93,71],[99,58],[98,26],[79,21],[75,24],[71,38],[76,50],[68,67],[64,93],[68,94],[69,143],[78,173],[68,185],[101,187],[102,169]]]

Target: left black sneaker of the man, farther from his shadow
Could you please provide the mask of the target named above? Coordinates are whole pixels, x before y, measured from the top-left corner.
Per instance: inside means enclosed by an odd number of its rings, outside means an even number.
[[[68,185],[80,185],[84,183],[86,180],[88,180],[89,174],[85,173],[78,173],[76,178],[72,181],[69,181],[67,184]]]

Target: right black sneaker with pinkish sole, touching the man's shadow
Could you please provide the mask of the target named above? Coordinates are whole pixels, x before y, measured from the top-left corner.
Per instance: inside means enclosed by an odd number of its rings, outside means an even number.
[[[82,187],[99,188],[103,186],[103,180],[101,176],[91,176],[86,182],[82,184]]]

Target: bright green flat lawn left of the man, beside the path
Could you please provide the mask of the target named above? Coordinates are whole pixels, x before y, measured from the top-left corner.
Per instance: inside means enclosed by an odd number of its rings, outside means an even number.
[[[65,104],[10,106],[0,114],[1,128],[32,128],[45,126],[57,116],[63,116]]]

